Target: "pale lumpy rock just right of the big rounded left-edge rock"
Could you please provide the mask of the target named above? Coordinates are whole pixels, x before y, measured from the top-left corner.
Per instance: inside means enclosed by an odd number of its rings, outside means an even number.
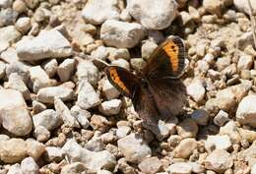
[[[53,109],[46,109],[32,116],[33,126],[35,128],[43,126],[48,131],[54,130],[62,123],[60,115]]]

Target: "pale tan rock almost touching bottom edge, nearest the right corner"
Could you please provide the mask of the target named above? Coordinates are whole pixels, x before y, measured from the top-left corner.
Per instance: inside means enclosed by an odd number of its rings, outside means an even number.
[[[233,159],[226,150],[216,149],[204,161],[205,167],[218,173],[223,173],[233,165]]]

